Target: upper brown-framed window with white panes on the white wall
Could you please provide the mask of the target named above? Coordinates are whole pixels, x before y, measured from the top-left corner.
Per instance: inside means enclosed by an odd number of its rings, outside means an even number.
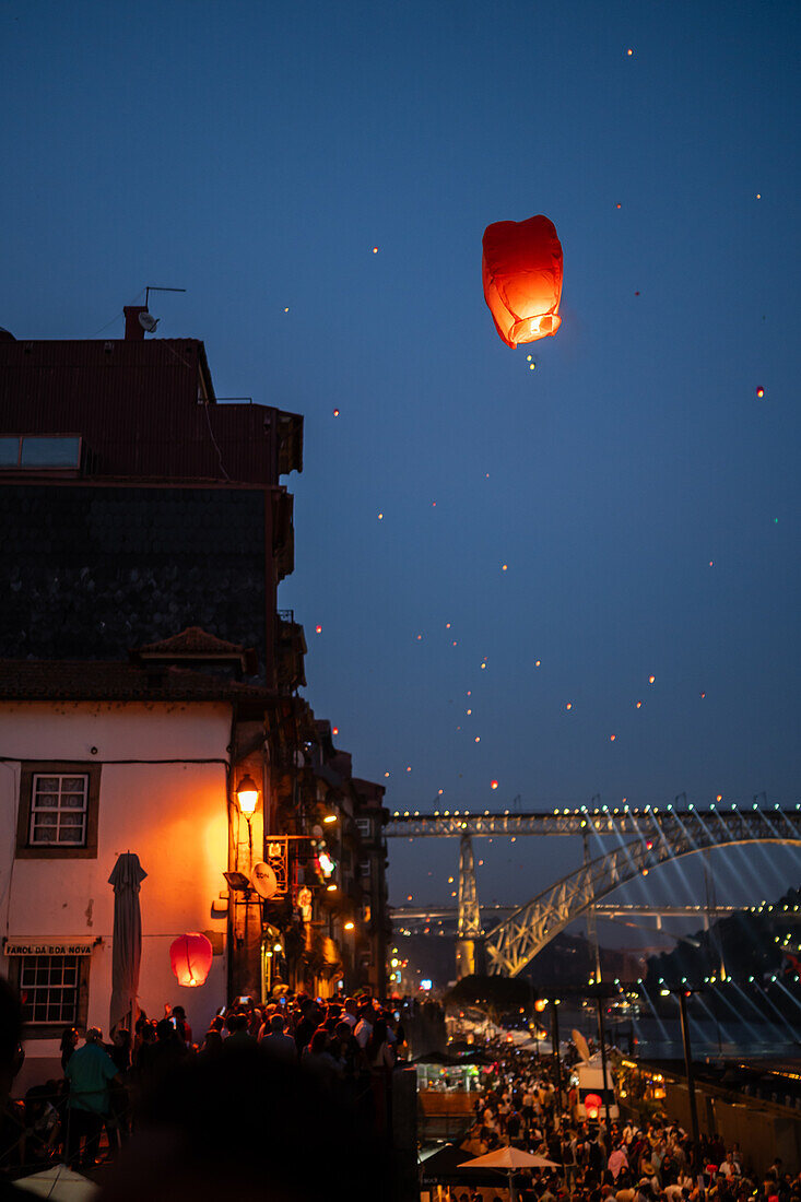
[[[24,763],[17,856],[96,857],[99,796],[100,764]]]

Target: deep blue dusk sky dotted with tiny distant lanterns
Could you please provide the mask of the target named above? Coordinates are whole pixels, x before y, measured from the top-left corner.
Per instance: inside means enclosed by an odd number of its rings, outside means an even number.
[[[799,23],[2,6],[0,323],[119,337],[146,284],[183,286],[159,335],[304,415],[280,603],[393,809],[801,797]],[[481,234],[534,213],[564,320],[510,351]],[[396,899],[445,898],[441,850],[393,846]],[[486,892],[522,900],[552,852]]]

